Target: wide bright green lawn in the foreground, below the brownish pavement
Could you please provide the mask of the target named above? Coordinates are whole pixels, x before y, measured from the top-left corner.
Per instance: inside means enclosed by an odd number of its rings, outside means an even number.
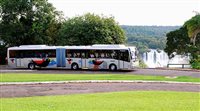
[[[199,111],[200,93],[129,91],[2,98],[1,111]]]

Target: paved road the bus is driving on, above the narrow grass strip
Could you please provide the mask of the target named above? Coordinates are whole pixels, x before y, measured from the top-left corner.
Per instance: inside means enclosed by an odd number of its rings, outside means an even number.
[[[186,69],[134,69],[132,71],[108,71],[108,70],[69,70],[69,69],[13,69],[1,67],[0,73],[40,73],[40,74],[138,74],[138,75],[160,75],[160,76],[191,76],[200,78],[200,70]]]

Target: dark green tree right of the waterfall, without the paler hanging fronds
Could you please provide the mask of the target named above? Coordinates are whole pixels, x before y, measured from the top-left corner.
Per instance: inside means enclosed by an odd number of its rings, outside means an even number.
[[[196,36],[196,45],[190,42],[188,37],[187,27],[183,26],[178,30],[171,31],[167,34],[167,44],[165,51],[170,57],[173,53],[191,55],[191,66],[195,69],[200,69],[200,33]]]

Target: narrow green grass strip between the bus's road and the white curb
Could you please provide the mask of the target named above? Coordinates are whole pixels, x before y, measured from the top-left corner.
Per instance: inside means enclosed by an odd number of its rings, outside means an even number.
[[[69,81],[69,80],[146,80],[146,81],[179,81],[200,82],[200,78],[178,76],[145,76],[133,74],[0,74],[0,82],[36,82],[36,81]]]

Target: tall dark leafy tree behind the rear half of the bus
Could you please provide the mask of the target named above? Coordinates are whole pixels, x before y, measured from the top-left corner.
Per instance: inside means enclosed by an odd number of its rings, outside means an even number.
[[[47,0],[1,0],[0,39],[8,46],[53,44],[60,15]]]

